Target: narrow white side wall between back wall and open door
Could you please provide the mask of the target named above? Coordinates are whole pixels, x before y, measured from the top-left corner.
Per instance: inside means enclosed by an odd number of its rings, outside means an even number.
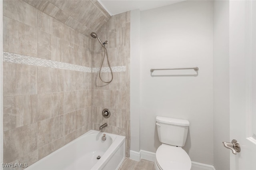
[[[214,167],[230,169],[229,141],[229,1],[214,1],[213,22],[213,139]]]

